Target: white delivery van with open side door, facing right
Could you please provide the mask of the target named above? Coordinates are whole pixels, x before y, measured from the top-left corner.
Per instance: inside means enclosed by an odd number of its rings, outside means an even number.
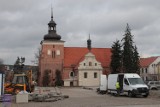
[[[142,78],[136,73],[119,73],[108,75],[108,93],[117,94],[116,82],[120,84],[120,94],[127,94],[130,97],[149,95],[149,88]]]

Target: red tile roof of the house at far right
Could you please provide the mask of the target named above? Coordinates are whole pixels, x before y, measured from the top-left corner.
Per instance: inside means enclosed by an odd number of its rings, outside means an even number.
[[[148,67],[157,58],[158,57],[140,58],[140,65],[141,67]]]

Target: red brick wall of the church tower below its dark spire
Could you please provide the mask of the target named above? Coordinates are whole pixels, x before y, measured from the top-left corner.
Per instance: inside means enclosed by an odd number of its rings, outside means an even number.
[[[42,86],[42,80],[45,70],[50,70],[50,85],[54,84],[56,70],[63,70],[64,60],[64,41],[42,41],[41,56],[39,61],[39,86]]]

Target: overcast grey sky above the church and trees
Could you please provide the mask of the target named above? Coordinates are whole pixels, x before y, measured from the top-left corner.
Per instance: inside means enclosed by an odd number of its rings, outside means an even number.
[[[110,48],[128,23],[141,57],[160,55],[160,0],[0,0],[0,58],[14,64],[25,57],[33,64],[48,33],[51,4],[57,33],[65,47]]]

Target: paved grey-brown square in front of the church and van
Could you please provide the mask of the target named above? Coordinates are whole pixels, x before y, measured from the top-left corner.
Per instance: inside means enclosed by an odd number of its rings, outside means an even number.
[[[108,94],[99,95],[96,93],[95,89],[88,90],[80,87],[61,88],[60,90],[63,95],[69,95],[69,98],[56,102],[11,103],[8,104],[8,107],[114,107],[160,105],[160,91],[150,91],[150,95],[147,98],[129,98],[127,96],[115,97]]]

